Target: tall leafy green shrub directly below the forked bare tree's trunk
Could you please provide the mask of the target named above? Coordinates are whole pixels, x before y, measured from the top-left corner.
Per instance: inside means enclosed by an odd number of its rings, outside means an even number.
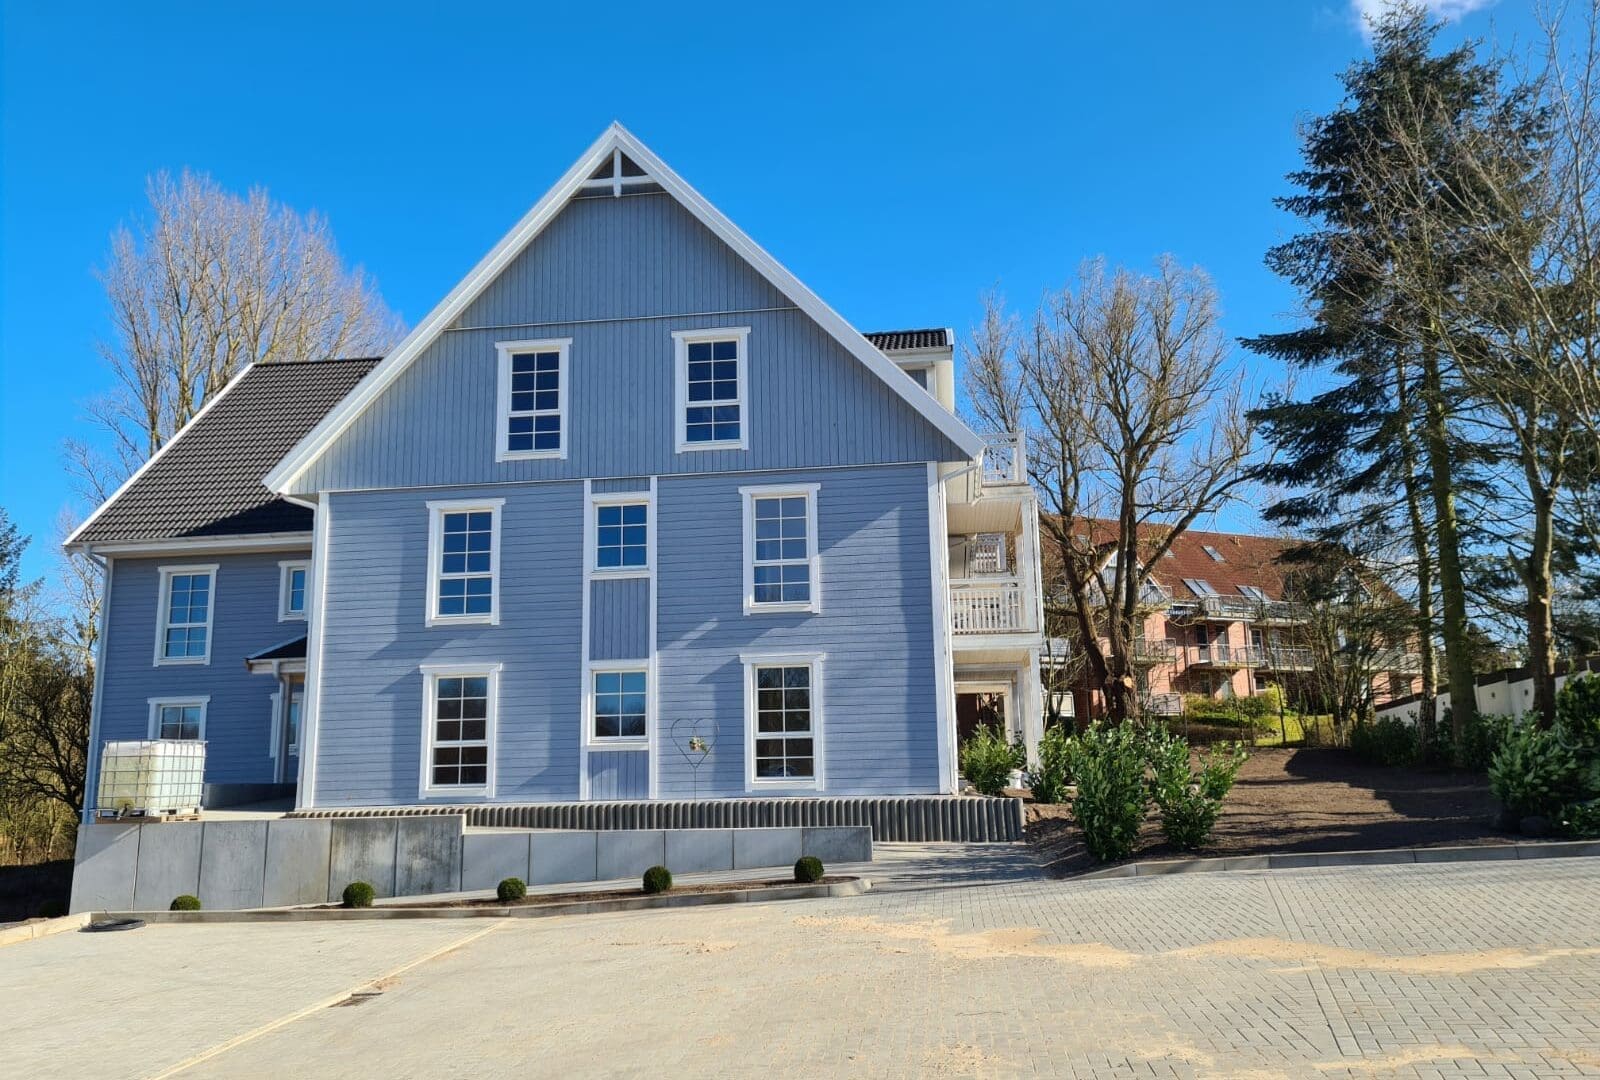
[[[1067,770],[1078,786],[1072,818],[1098,862],[1126,859],[1139,838],[1149,805],[1144,742],[1133,725],[1099,722],[1067,739]]]

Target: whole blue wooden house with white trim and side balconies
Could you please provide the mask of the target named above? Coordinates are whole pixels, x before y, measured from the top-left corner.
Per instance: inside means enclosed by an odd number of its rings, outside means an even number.
[[[613,125],[387,357],[242,371],[69,539],[94,747],[203,739],[210,805],[955,792],[1037,738],[1042,605],[952,346]]]

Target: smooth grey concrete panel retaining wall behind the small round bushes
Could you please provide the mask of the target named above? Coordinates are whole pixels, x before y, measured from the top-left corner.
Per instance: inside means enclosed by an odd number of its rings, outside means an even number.
[[[378,896],[429,896],[531,885],[787,867],[872,858],[867,827],[467,829],[464,814],[93,824],[78,829],[72,912],[165,910],[192,893],[206,910],[339,899],[350,882]]]

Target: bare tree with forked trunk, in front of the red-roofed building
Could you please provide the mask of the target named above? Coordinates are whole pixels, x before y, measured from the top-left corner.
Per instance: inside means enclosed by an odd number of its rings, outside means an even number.
[[[971,408],[1029,434],[1045,560],[1061,579],[1046,606],[1072,627],[1107,712],[1136,717],[1133,648],[1155,562],[1234,498],[1254,454],[1211,282],[1170,258],[1154,275],[1086,262],[1030,333],[987,298],[966,355]]]

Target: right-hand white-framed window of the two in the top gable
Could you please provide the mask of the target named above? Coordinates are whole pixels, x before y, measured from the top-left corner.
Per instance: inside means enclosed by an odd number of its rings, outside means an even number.
[[[747,450],[749,326],[677,330],[677,448]]]

